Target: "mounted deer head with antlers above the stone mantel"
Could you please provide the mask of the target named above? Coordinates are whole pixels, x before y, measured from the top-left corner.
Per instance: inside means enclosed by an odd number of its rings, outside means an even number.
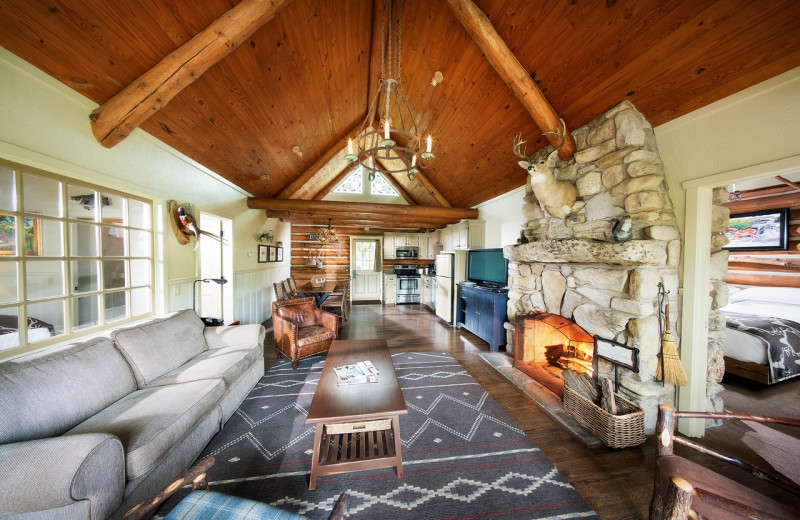
[[[533,188],[533,193],[539,200],[539,204],[552,216],[567,218],[570,213],[582,208],[583,202],[575,203],[578,198],[578,192],[571,182],[556,180],[553,175],[553,167],[558,162],[558,151],[566,142],[567,125],[563,119],[561,120],[561,128],[561,131],[542,134],[553,134],[561,138],[561,144],[550,153],[547,159],[534,161],[534,154],[525,155],[527,149],[524,144],[526,141],[522,140],[521,134],[514,136],[514,155],[524,159],[519,161],[519,165],[530,174],[531,188]]]

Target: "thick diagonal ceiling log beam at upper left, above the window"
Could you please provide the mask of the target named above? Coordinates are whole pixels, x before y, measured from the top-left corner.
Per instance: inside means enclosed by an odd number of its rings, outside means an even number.
[[[291,2],[243,0],[95,109],[95,139],[106,148],[118,144]]]

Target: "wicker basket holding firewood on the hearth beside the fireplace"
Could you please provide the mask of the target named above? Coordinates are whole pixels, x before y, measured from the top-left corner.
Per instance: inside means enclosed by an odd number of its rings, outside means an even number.
[[[569,386],[564,386],[564,409],[609,448],[629,448],[645,441],[644,410],[614,394],[618,415],[608,413]]]

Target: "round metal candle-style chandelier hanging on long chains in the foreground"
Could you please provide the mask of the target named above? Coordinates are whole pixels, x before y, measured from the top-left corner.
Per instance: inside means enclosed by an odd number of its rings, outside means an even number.
[[[417,168],[430,166],[434,155],[430,135],[422,151],[422,138],[411,105],[400,83],[400,15],[402,0],[384,0],[381,13],[381,77],[367,116],[355,138],[347,140],[345,158],[362,164],[370,180],[375,172],[405,173],[409,180],[419,173]],[[379,100],[381,101],[379,103]],[[373,122],[381,106],[380,128]]]

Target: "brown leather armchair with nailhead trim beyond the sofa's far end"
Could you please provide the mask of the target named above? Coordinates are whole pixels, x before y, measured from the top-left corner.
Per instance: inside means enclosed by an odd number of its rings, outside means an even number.
[[[317,309],[314,298],[272,302],[272,331],[275,350],[292,360],[325,352],[336,339],[339,318]]]

